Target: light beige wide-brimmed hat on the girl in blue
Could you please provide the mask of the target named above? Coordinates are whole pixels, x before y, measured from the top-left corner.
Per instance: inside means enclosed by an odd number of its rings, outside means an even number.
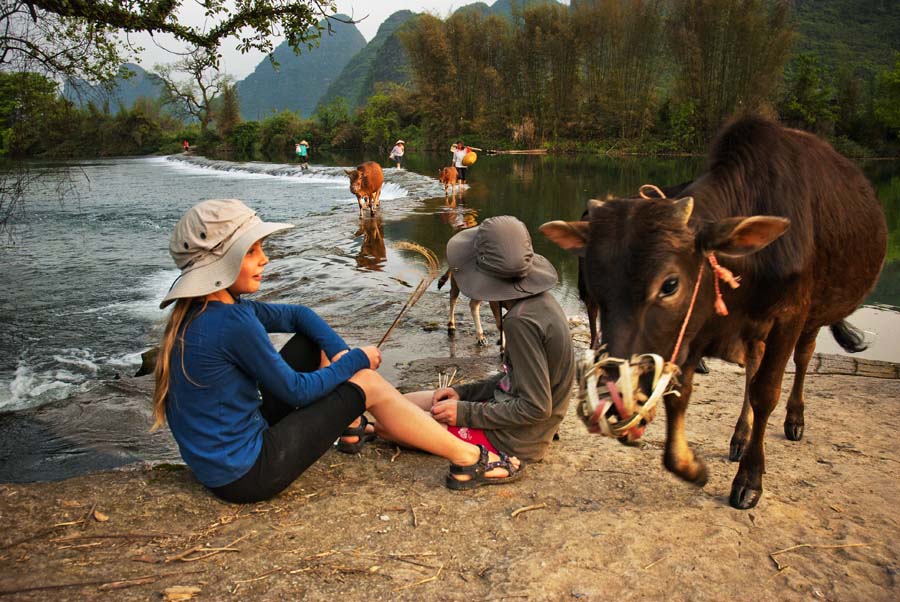
[[[253,243],[293,227],[264,222],[237,199],[197,203],[178,221],[169,240],[169,254],[181,275],[159,308],[176,299],[203,297],[228,288],[237,280]]]

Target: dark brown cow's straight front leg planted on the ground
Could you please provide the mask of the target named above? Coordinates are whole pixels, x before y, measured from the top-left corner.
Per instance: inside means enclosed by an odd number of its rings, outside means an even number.
[[[799,333],[799,326],[776,324],[766,339],[762,361],[750,383],[750,406],[753,409],[750,443],[741,458],[728,498],[728,503],[734,508],[753,508],[762,497],[762,475],[766,471],[766,423],[778,403],[784,368]]]

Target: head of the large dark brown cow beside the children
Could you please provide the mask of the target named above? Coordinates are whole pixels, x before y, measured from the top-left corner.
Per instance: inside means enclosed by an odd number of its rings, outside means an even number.
[[[691,220],[694,201],[614,199],[590,201],[587,221],[548,222],[541,232],[584,257],[584,277],[600,306],[603,343],[610,355],[671,355],[700,266],[714,251],[742,257],[781,236],[788,220],[770,216],[720,221]],[[676,363],[714,315],[710,270],[685,333]]]

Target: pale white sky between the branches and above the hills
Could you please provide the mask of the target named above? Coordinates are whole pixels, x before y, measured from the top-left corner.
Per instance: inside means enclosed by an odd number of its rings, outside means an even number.
[[[336,2],[338,12],[350,15],[358,20],[356,27],[362,33],[366,41],[370,41],[378,32],[378,27],[389,16],[398,10],[411,10],[413,12],[428,12],[435,16],[445,18],[456,9],[467,4],[473,4],[476,0],[338,0]],[[486,4],[493,4],[494,0],[484,0]],[[202,8],[188,0],[181,10],[181,18],[185,23],[202,25],[205,17]],[[149,35],[132,35],[131,42],[142,46],[144,52],[137,57],[141,67],[150,70],[159,63],[171,63],[177,60],[166,49],[178,50],[177,44],[171,39],[157,35],[151,38]],[[277,40],[277,46],[281,40]],[[265,57],[260,52],[241,54],[235,50],[235,40],[227,40],[222,45],[222,69],[235,79],[243,79],[253,72],[256,65]]]

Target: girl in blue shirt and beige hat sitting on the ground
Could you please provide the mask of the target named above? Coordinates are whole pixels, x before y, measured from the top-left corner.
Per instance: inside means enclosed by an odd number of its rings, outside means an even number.
[[[269,263],[262,239],[292,227],[227,199],[198,203],[172,234],[181,275],[160,303],[174,308],[157,359],[153,429],[168,421],[198,480],[230,502],[271,498],[338,437],[348,453],[371,440],[366,410],[379,433],[450,460],[448,486],[518,478],[517,459],[453,437],[375,372],[378,348],[349,349],[308,307],[242,299]],[[294,337],[279,353],[270,332]]]

